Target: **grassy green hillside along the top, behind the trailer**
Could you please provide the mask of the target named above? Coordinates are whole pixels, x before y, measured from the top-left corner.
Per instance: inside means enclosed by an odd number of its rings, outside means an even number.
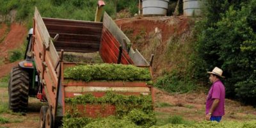
[[[43,17],[76,19],[76,20],[94,20],[98,0],[0,0],[4,6],[0,7],[0,15],[8,15],[11,10],[17,10],[15,20],[26,20],[28,26],[32,26],[32,17],[35,6]],[[104,11],[111,17],[116,17],[116,12],[120,10],[129,10],[132,15],[138,12],[138,1],[126,0],[105,0]],[[10,20],[10,19],[6,19]]]

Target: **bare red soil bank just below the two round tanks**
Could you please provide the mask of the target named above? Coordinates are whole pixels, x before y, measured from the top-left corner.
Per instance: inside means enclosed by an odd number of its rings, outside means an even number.
[[[166,42],[174,33],[180,35],[188,28],[187,17],[143,17],[141,19],[120,19],[115,21],[122,29],[133,29],[133,36],[138,35],[141,29],[146,33],[155,31],[155,28],[161,29],[163,42]]]

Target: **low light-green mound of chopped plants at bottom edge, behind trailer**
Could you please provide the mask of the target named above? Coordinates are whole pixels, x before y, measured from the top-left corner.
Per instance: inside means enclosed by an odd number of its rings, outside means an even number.
[[[102,120],[96,120],[90,124],[84,126],[83,128],[140,128],[138,125],[132,123],[130,120],[124,120],[116,118],[115,116],[109,116],[108,118],[103,118]]]

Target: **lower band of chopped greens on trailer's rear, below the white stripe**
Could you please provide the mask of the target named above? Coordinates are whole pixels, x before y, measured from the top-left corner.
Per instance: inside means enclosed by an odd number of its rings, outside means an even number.
[[[144,113],[152,113],[152,97],[150,95],[120,95],[113,92],[106,92],[104,97],[96,98],[91,93],[65,99],[66,104],[76,106],[76,104],[111,104],[116,107],[116,116],[127,115],[132,109],[140,109]],[[76,107],[73,107],[76,111]],[[71,115],[76,116],[77,113]]]

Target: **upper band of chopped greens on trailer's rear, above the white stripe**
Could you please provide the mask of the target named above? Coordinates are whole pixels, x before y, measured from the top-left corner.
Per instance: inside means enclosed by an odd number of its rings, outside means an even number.
[[[65,69],[64,77],[82,81],[150,81],[148,68],[120,64],[78,65]]]

